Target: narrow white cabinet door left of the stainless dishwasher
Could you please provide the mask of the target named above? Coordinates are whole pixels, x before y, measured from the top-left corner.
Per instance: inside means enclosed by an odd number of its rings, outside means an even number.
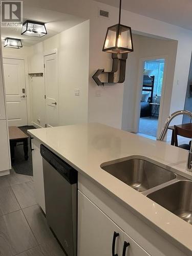
[[[42,172],[42,157],[40,155],[40,142],[32,139],[32,161],[33,161],[33,180],[35,188],[35,199],[41,209],[46,213],[44,174]]]

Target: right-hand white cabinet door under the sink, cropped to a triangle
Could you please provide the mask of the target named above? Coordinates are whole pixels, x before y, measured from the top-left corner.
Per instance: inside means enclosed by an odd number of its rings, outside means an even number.
[[[122,256],[150,256],[140,245],[138,245],[128,234],[124,233],[124,244]]]

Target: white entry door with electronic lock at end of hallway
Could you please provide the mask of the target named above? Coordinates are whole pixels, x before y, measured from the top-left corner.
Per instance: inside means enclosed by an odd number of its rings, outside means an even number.
[[[25,63],[22,59],[3,58],[8,124],[27,125]]]

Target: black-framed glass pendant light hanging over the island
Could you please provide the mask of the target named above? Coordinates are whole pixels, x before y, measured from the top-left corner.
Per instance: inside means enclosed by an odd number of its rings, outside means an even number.
[[[103,52],[116,54],[133,52],[133,39],[130,27],[120,24],[121,22],[121,0],[119,4],[119,23],[111,26],[106,31]]]

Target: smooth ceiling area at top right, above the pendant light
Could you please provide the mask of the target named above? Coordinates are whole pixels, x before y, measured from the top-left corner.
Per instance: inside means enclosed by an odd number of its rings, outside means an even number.
[[[117,0],[97,0],[118,7]],[[122,9],[192,30],[191,0],[122,0]]]

